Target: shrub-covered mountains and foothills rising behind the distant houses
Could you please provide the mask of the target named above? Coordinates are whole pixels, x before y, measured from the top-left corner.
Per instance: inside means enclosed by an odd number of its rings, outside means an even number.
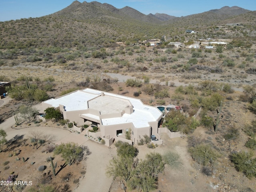
[[[241,23],[243,30],[254,34],[256,11],[237,6],[224,6],[189,16],[175,17],[167,14],[145,15],[128,6],[118,9],[106,3],[74,1],[70,6],[53,14],[20,20],[0,22],[0,48],[23,48],[26,46],[74,47],[78,44],[111,46],[122,42],[136,42],[148,38],[169,38],[178,35],[178,41],[188,40],[186,29],[203,31],[227,23]],[[216,33],[220,38],[234,34]],[[246,32],[248,33],[248,32]],[[210,32],[197,34],[204,38]],[[243,37],[239,32],[237,37]],[[248,38],[248,35],[247,35]],[[175,40],[175,38],[174,38]]]

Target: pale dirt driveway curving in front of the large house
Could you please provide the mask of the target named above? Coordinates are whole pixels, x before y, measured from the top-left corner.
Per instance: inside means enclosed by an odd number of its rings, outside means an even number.
[[[40,108],[40,105],[37,105],[36,107]],[[56,136],[54,141],[54,143],[56,144],[75,142],[79,145],[88,146],[91,154],[87,156],[87,159],[85,161],[86,174],[84,178],[80,181],[80,185],[75,191],[107,192],[109,190],[112,183],[112,178],[106,176],[105,168],[106,165],[109,163],[111,157],[116,154],[116,150],[89,140],[84,136],[84,134],[75,134],[71,133],[68,130],[63,130],[59,128],[39,126],[23,129],[13,129],[11,128],[11,126],[14,125],[14,122],[15,120],[13,116],[0,124],[0,129],[4,129],[7,133],[7,140],[10,140],[17,135],[24,135],[24,138],[29,138],[29,132],[31,130],[40,130],[46,134]]]

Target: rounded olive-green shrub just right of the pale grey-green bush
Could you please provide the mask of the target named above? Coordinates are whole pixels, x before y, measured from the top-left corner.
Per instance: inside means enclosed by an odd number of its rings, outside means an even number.
[[[192,158],[199,164],[206,166],[213,163],[220,155],[210,145],[199,144],[188,149]]]

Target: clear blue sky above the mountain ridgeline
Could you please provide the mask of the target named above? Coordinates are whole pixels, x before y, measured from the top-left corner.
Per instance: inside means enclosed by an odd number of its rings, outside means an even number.
[[[46,16],[60,11],[74,0],[0,0],[0,21]],[[187,16],[224,6],[238,6],[256,10],[255,0],[96,0],[116,8],[129,6],[143,14],[165,13],[171,16]],[[79,0],[83,2],[83,0]],[[86,2],[92,2],[87,0]]]

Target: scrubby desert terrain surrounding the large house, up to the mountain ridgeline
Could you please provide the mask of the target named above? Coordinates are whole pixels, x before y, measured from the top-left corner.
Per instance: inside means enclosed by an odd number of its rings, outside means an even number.
[[[127,16],[134,10],[113,14],[107,5],[75,1],[48,16],[0,22],[0,82],[11,82],[0,100],[0,191],[256,191],[256,12],[225,7],[197,14],[205,20],[160,22],[137,12]],[[159,44],[150,45],[153,39]],[[202,42],[227,44],[206,48]],[[145,181],[152,188],[134,186],[134,172],[130,180],[107,174],[120,158],[116,143],[107,147],[60,120],[22,119],[24,106],[43,114],[42,101],[85,88],[182,107],[183,122],[164,112],[162,126],[184,137],[161,133],[162,145],[133,146],[137,170],[147,154],[162,156],[164,169],[150,175],[154,182]],[[36,141],[34,133],[40,133]],[[54,149],[70,142],[83,152],[68,165]],[[168,153],[177,155],[171,164]],[[11,175],[28,185],[4,185]]]

